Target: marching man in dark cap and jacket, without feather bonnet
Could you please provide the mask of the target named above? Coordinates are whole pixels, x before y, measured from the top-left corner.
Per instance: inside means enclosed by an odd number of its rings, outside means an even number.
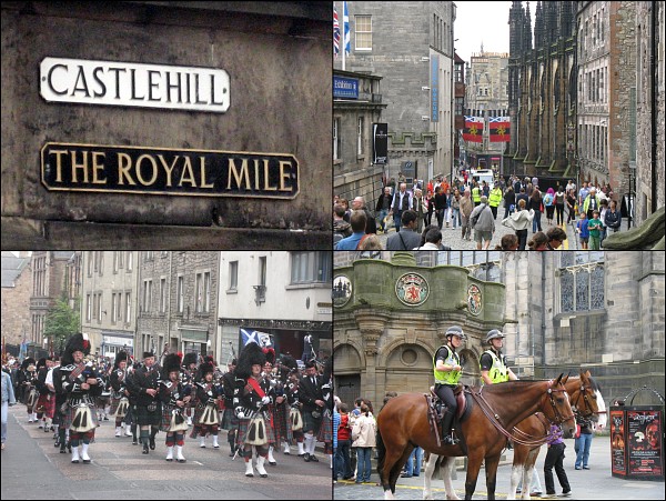
[[[143,365],[134,370],[132,378],[128,380],[130,392],[137,399],[137,414],[134,419],[141,432],[143,454],[155,450],[155,435],[158,434],[162,411],[160,409],[160,395],[158,382],[160,380],[160,365],[155,363],[152,351],[143,352]],[[150,438],[149,438],[150,435]]]

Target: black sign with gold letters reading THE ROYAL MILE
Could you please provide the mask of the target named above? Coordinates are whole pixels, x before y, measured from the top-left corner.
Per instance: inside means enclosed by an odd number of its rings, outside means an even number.
[[[49,191],[293,199],[299,161],[287,153],[48,142]]]

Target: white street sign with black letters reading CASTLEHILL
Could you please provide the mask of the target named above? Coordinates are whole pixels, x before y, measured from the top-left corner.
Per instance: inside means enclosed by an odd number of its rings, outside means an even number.
[[[229,109],[229,73],[215,68],[44,58],[40,94],[47,101],[198,110]]]

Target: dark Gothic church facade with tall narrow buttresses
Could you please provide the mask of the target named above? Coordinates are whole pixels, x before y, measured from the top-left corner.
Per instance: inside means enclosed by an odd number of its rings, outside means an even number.
[[[509,173],[573,176],[576,144],[576,3],[537,2],[509,10]]]

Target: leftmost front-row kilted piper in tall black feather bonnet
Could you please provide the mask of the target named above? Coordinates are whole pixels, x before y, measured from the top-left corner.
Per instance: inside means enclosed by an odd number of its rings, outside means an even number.
[[[90,463],[88,448],[94,439],[97,413],[94,399],[101,394],[103,381],[98,374],[97,365],[83,358],[90,354],[90,341],[82,333],[72,335],[64,348],[58,378],[53,378],[56,391],[67,395],[62,417],[64,427],[70,431],[72,463],[80,460]],[[79,445],[81,455],[79,457]]]

